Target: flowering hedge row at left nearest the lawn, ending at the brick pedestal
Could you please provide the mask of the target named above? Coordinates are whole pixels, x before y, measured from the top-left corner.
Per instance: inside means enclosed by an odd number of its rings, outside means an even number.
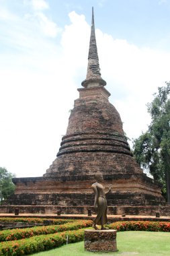
[[[84,229],[65,231],[58,234],[42,234],[18,241],[3,242],[0,244],[0,255],[19,256],[38,253],[64,245],[69,236],[69,243],[83,240]]]

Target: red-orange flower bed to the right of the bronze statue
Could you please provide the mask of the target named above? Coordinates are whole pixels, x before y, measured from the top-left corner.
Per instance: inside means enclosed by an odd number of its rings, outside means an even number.
[[[170,232],[170,222],[124,221],[114,222],[108,225],[108,227],[118,231],[139,230]]]

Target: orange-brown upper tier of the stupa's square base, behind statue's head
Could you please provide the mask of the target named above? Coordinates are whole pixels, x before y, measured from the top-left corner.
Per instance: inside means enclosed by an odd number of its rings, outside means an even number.
[[[144,193],[148,194],[148,198],[152,196],[161,197],[161,191],[158,190],[160,184],[153,181],[151,178],[146,177],[142,173],[126,173],[126,174],[104,174],[105,190],[112,185],[112,193]],[[74,178],[74,180],[73,180]],[[91,185],[94,182],[93,174],[76,175],[70,172],[64,177],[35,177],[35,178],[15,178],[13,183],[17,185],[15,195],[17,194],[38,194],[44,193],[48,190],[47,194],[56,193],[83,193],[91,194]],[[163,200],[163,197],[161,197]]]

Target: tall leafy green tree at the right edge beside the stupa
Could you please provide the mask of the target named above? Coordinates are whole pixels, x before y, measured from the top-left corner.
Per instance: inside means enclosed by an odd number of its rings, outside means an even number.
[[[147,104],[151,125],[133,141],[134,157],[141,167],[163,184],[170,204],[170,83],[159,87],[154,99]]]

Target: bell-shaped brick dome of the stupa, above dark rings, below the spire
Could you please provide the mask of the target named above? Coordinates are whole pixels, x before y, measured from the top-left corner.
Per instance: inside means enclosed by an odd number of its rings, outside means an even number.
[[[104,88],[84,88],[81,98],[75,100],[75,107],[69,117],[66,135],[77,133],[118,133],[124,135],[122,121],[116,108],[103,94]],[[92,94],[91,91],[95,91]]]

